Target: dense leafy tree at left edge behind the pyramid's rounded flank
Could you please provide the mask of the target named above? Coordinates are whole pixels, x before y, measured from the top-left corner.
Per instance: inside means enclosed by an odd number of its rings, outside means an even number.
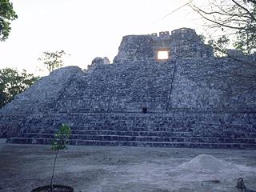
[[[0,108],[36,81],[38,77],[28,74],[26,70],[22,70],[22,73],[10,68],[0,70]]]

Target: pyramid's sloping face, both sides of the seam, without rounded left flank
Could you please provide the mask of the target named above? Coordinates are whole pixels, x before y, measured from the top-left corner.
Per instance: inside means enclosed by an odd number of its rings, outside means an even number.
[[[253,111],[255,69],[244,62],[184,58],[98,65],[77,75],[55,108],[64,112],[142,112],[143,107],[148,112]]]

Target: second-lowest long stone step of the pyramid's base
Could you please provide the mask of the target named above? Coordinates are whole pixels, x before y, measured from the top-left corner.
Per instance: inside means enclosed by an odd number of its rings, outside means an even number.
[[[54,134],[22,134],[21,138],[54,138]],[[250,143],[256,144],[256,138],[214,138],[214,137],[146,137],[127,135],[95,135],[71,134],[70,140],[95,140],[95,141],[134,141],[134,142],[216,142],[216,143]]]

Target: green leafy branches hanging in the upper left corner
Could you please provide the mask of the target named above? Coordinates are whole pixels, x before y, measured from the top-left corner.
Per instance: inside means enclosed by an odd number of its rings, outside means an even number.
[[[9,0],[0,0],[0,41],[5,41],[10,34],[10,22],[18,18],[13,4]]]

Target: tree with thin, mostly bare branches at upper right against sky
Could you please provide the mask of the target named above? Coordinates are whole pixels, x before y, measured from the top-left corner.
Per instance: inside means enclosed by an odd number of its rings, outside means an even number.
[[[234,37],[234,47],[245,54],[256,50],[256,0],[210,0],[209,5],[191,2],[190,6],[206,19],[213,34]]]

